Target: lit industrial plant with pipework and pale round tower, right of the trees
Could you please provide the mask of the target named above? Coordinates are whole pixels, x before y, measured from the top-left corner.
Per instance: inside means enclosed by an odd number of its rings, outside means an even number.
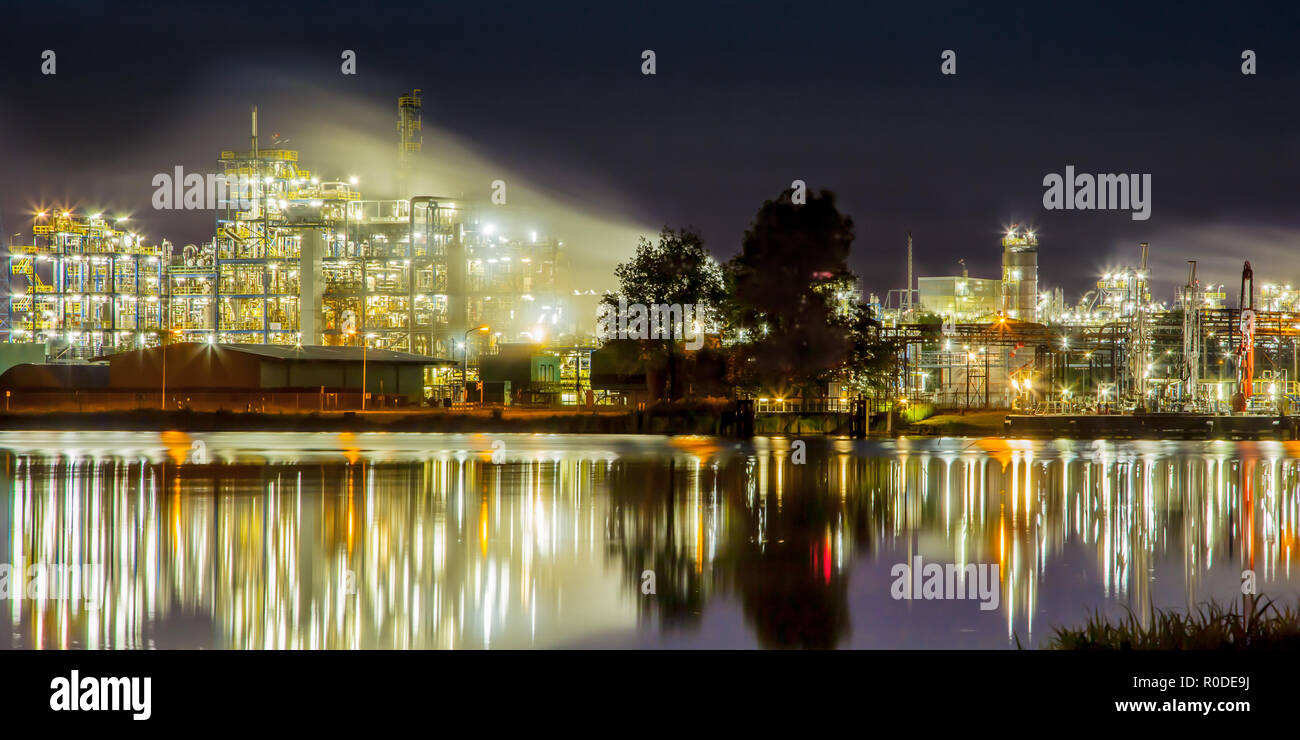
[[[1000,281],[920,277],[878,306],[881,334],[898,347],[904,399],[1040,415],[1288,415],[1300,402],[1292,286],[1256,287],[1245,263],[1228,306],[1225,286],[1204,285],[1188,261],[1165,303],[1152,295],[1143,243],[1135,264],[1067,306],[1040,289],[1037,247],[1032,230],[1013,225]]]

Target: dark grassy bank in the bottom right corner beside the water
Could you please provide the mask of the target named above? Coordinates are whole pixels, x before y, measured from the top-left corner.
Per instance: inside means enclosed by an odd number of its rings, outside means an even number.
[[[1154,610],[1145,626],[1132,610],[1119,619],[1095,613],[1078,628],[1057,627],[1049,650],[1300,650],[1300,610],[1266,597],[1192,611]]]

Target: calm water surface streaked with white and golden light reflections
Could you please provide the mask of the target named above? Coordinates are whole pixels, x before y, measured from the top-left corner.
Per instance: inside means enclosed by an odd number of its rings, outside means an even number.
[[[1296,443],[806,442],[0,433],[0,562],[104,581],[10,593],[0,646],[1008,648],[1300,590]],[[916,555],[998,607],[893,600]]]

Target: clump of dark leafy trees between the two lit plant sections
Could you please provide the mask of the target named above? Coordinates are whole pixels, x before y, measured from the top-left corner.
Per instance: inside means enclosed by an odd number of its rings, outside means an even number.
[[[853,238],[853,218],[838,211],[833,192],[794,203],[786,190],[759,208],[725,269],[689,229],[664,228],[658,242],[642,238],[632,259],[615,269],[620,294],[604,303],[706,306],[708,323],[724,325],[731,391],[816,397],[829,381],[879,391],[888,385],[894,352],[880,342],[879,325],[859,299],[848,265]],[[666,362],[667,395],[676,398],[681,363],[675,342],[637,346],[647,367]],[[663,390],[658,381],[650,385],[655,395]]]

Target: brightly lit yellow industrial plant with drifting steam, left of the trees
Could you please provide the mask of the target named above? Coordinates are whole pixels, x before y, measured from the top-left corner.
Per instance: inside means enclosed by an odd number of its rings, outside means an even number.
[[[419,90],[399,100],[399,179],[420,151]],[[363,200],[298,152],[224,151],[207,243],[144,246],[108,220],[42,213],[10,247],[8,341],[90,358],[166,341],[361,345],[465,356],[545,342],[568,324],[563,242],[458,198]],[[212,178],[209,178],[211,182]],[[491,217],[488,217],[491,211]],[[502,212],[498,216],[498,212]],[[478,326],[488,332],[474,332]],[[66,346],[66,349],[65,349]]]

